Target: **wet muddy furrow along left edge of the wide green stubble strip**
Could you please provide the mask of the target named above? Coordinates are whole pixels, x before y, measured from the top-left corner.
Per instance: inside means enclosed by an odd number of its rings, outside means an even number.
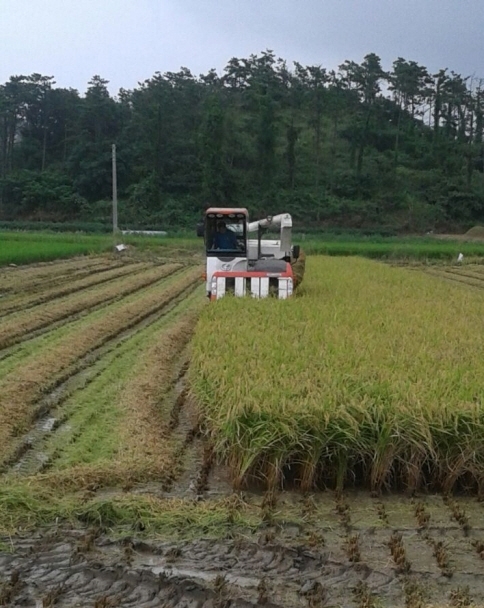
[[[154,312],[139,323],[126,329],[108,340],[102,346],[92,350],[85,357],[78,360],[72,373],[62,380],[49,394],[33,404],[34,425],[30,431],[19,441],[17,450],[8,466],[12,471],[31,475],[48,469],[52,464],[52,455],[47,455],[45,445],[52,440],[54,434],[66,434],[75,441],[82,429],[70,429],[69,417],[63,410],[63,403],[76,391],[84,390],[91,382],[98,378],[117,357],[123,355],[121,346],[172,311],[176,312],[180,302],[193,292],[193,286],[173,298],[161,310]],[[112,356],[108,357],[109,354]],[[99,365],[95,365],[99,362]],[[186,373],[184,363],[183,373]],[[89,420],[86,421],[88,423]]]

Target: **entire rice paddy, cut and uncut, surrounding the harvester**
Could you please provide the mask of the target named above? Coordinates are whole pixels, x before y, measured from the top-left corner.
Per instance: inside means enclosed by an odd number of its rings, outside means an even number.
[[[0,605],[484,605],[484,266],[202,270],[0,271]]]

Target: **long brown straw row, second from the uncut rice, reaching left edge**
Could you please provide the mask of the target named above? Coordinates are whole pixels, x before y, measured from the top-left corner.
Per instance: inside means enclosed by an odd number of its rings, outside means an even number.
[[[20,369],[6,374],[0,383],[0,462],[12,457],[17,438],[29,428],[35,416],[35,402],[72,374],[76,361],[161,310],[173,298],[192,289],[198,280],[199,270],[193,269],[173,285],[156,285],[144,297],[88,320],[59,340],[52,350],[32,356]]]

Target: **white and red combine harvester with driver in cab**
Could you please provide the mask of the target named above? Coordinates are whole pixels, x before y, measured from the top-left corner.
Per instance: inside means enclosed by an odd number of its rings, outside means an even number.
[[[278,240],[266,240],[263,233],[279,228]],[[249,234],[257,238],[249,239]],[[242,297],[286,299],[293,294],[295,279],[302,279],[304,264],[293,273],[300,251],[292,245],[292,218],[288,213],[249,222],[247,209],[211,207],[198,225],[205,239],[207,296],[211,300],[227,293]]]

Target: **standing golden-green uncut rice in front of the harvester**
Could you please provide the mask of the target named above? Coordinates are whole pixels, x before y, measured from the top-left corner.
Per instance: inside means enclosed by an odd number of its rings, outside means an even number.
[[[207,307],[190,380],[234,483],[483,489],[484,298],[360,258]]]

